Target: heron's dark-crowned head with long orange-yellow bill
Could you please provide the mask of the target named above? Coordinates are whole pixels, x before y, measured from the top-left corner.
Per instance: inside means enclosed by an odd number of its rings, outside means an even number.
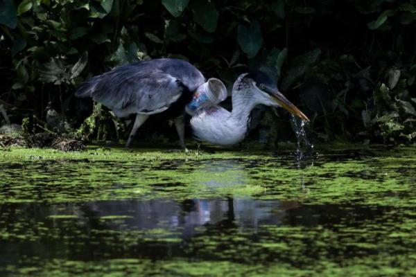
[[[272,79],[261,71],[253,71],[240,75],[236,82],[238,90],[250,93],[257,104],[266,106],[283,107],[303,120],[309,121],[300,109],[297,109],[283,94],[277,89],[277,85]]]

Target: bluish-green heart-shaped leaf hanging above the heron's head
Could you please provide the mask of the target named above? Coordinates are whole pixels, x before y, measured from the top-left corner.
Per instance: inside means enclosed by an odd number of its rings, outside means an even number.
[[[248,27],[239,24],[237,33],[241,50],[250,58],[257,55],[263,43],[259,22],[253,20]]]

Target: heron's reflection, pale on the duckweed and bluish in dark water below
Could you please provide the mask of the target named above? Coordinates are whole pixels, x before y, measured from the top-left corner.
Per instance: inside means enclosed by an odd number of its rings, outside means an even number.
[[[209,176],[200,180],[201,184],[211,186],[213,190],[218,186],[248,185],[248,172],[239,160],[201,161],[191,174],[201,176],[200,170]],[[257,229],[261,224],[281,224],[286,210],[297,205],[297,202],[261,201],[229,195],[215,199],[184,199],[182,202],[166,199],[95,202],[85,206],[89,210],[85,215],[128,215],[123,226],[109,221],[107,228],[164,229],[189,237],[200,232],[197,228],[200,226]]]

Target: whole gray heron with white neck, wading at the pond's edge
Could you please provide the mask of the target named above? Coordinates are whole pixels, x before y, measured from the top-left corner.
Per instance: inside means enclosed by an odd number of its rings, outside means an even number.
[[[130,147],[137,129],[153,114],[165,112],[173,118],[180,145],[184,143],[184,116],[193,92],[205,83],[195,66],[184,60],[154,59],[119,66],[80,85],[78,97],[91,97],[120,118],[135,114],[135,123],[125,144]],[[303,120],[309,119],[277,89],[266,73],[243,73],[234,82],[232,111],[214,105],[192,115],[196,139],[216,145],[242,141],[248,130],[250,111],[256,105],[284,107]]]

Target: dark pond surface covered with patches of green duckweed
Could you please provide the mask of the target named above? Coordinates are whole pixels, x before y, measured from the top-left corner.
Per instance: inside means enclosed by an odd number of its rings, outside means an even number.
[[[33,151],[0,153],[0,276],[416,276],[413,148]]]

